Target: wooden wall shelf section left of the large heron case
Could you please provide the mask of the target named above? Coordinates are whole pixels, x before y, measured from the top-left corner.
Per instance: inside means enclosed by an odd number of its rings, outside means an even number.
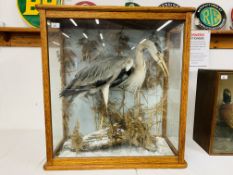
[[[0,27],[0,46],[40,47],[40,29]]]

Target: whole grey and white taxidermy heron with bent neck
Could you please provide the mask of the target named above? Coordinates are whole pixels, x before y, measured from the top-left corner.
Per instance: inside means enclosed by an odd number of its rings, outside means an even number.
[[[136,47],[135,60],[131,57],[110,57],[93,60],[91,64],[77,72],[75,78],[61,92],[60,96],[91,95],[101,91],[107,107],[110,87],[121,86],[136,92],[141,88],[146,77],[145,49],[161,67],[164,75],[168,76],[165,61],[159,55],[154,43],[144,39]]]

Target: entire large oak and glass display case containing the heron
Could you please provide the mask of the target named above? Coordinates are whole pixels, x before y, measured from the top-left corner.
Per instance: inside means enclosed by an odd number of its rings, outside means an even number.
[[[45,169],[186,167],[194,9],[38,8]]]

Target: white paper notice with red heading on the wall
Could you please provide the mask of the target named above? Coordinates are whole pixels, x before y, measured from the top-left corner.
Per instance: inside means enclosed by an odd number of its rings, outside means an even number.
[[[209,65],[210,31],[191,32],[190,71],[207,68]]]

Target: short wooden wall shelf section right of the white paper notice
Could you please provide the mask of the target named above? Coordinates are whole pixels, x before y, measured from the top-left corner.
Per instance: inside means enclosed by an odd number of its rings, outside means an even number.
[[[233,30],[211,31],[210,48],[233,49]]]

